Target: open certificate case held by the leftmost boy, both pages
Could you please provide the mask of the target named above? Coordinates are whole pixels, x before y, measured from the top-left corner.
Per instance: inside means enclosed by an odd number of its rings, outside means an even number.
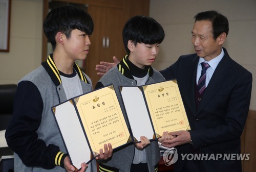
[[[132,141],[113,85],[74,97],[52,111],[77,169],[99,155],[105,143],[115,149]]]

